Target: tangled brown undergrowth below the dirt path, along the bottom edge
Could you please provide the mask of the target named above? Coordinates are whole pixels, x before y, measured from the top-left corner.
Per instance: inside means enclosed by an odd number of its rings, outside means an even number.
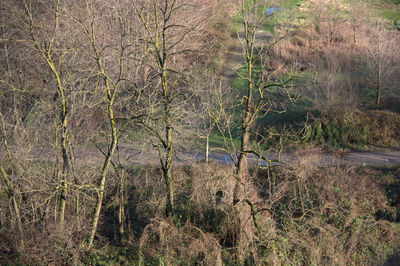
[[[63,233],[31,228],[24,253],[6,252],[3,242],[2,263],[232,265],[236,219],[230,171],[215,164],[176,169],[177,212],[165,219],[158,170],[132,169],[123,242],[117,203],[109,197],[95,249],[79,245],[83,236],[69,220]],[[309,158],[296,169],[253,169],[251,175],[257,238],[247,247],[248,264],[383,264],[399,252],[398,168],[317,168]],[[0,234],[12,247],[13,236]]]

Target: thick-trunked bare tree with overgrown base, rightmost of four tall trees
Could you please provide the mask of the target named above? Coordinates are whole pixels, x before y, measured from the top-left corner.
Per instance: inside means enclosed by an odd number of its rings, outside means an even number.
[[[284,111],[285,104],[291,100],[287,86],[291,78],[287,80],[277,79],[273,73],[265,68],[267,51],[286,36],[286,33],[283,33],[276,40],[267,43],[266,32],[261,31],[268,19],[264,10],[267,10],[271,5],[272,2],[270,1],[241,1],[239,3],[243,26],[243,37],[240,41],[243,47],[245,66],[244,74],[238,72],[238,76],[246,84],[240,102],[242,109],[240,146],[237,153],[232,153],[237,173],[233,205],[238,217],[236,245],[239,260],[243,260],[248,243],[255,239],[255,218],[253,216],[252,196],[249,195],[252,183],[248,172],[247,157],[248,154],[254,154],[262,158],[263,155],[252,148],[252,127],[260,117],[267,115],[270,111]],[[257,66],[261,66],[261,70],[258,70]],[[276,92],[273,92],[274,90]]]

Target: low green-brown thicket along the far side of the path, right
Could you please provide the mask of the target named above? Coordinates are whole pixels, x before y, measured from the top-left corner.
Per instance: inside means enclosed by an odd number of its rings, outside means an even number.
[[[304,116],[302,116],[304,115]],[[382,150],[399,147],[400,114],[386,110],[310,110],[287,114],[286,126],[267,126],[265,147],[272,150]]]

